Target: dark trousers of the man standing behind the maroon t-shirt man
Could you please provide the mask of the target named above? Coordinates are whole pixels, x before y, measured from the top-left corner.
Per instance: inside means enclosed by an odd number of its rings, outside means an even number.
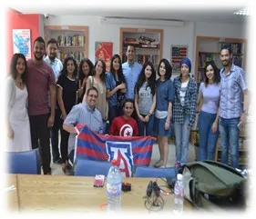
[[[59,159],[58,151],[58,131],[61,128],[63,120],[60,118],[61,112],[59,109],[55,111],[55,124],[51,128],[51,144],[52,144],[52,155],[53,162],[56,162]]]

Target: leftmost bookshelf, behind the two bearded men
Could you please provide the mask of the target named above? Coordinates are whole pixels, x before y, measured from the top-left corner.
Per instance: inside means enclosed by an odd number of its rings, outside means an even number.
[[[46,44],[55,38],[58,44],[57,58],[62,62],[72,55],[79,63],[88,56],[88,27],[75,25],[45,25]]]

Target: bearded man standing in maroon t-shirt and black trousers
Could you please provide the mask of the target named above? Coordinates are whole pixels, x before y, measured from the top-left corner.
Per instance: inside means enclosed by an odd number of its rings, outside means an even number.
[[[43,60],[45,50],[46,43],[38,36],[33,45],[34,58],[27,61],[28,114],[32,148],[39,146],[44,174],[51,174],[49,137],[55,121],[56,80],[52,68]]]

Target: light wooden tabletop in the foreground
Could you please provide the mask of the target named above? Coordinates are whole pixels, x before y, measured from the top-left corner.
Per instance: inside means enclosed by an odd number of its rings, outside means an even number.
[[[15,175],[8,175],[13,179]],[[150,178],[124,178],[123,182],[132,184],[131,192],[122,192],[122,212],[148,212],[143,196]],[[93,186],[94,177],[67,175],[17,174],[17,196],[20,212],[72,211],[104,212],[107,194],[104,187]],[[158,180],[159,184],[164,184]],[[12,194],[11,194],[12,195]],[[165,200],[164,211],[171,211],[173,194],[162,195]],[[191,209],[185,200],[184,211]]]

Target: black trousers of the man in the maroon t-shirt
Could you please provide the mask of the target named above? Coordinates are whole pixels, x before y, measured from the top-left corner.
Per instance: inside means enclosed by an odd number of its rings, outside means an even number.
[[[51,172],[49,114],[29,115],[32,149],[39,148],[44,174]]]

